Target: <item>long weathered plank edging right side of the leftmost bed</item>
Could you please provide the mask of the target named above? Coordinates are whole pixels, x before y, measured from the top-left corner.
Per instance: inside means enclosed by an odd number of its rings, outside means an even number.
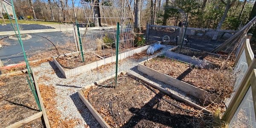
[[[34,72],[33,69],[31,69],[31,70],[32,70],[32,75],[33,75],[34,82],[35,82],[36,92],[38,94],[38,99],[39,99],[39,102],[40,102],[40,105],[41,105],[41,109],[42,109],[42,112],[43,112],[45,126],[46,126],[46,128],[51,128],[49,120],[48,120],[48,116],[47,116],[47,113],[46,113],[46,110],[44,108],[44,102],[43,102],[43,99],[41,97],[41,93],[40,93],[40,90],[39,90],[38,81],[37,81],[37,79],[35,77],[35,72]]]

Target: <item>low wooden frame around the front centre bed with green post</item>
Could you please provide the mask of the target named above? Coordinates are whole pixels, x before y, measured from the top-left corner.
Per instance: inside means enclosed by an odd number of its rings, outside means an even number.
[[[190,102],[190,101],[188,101],[188,100],[186,100],[186,99],[184,99],[184,98],[182,98],[180,96],[177,96],[176,94],[171,93],[169,90],[163,89],[162,87],[159,87],[159,86],[157,86],[157,85],[155,85],[155,84],[153,84],[153,83],[151,83],[149,81],[146,81],[145,79],[141,79],[141,78],[139,78],[137,76],[134,76],[134,75],[132,75],[130,73],[127,73],[125,71],[122,71],[122,72],[118,73],[118,75],[120,75],[120,74],[122,74],[122,75],[130,75],[130,76],[138,79],[139,81],[143,81],[146,84],[150,85],[151,87],[154,87],[155,89],[157,89],[157,90],[167,94],[168,96],[171,96],[172,98],[176,99],[177,101],[184,102],[185,104],[190,105],[190,106],[192,106],[192,107],[194,107],[194,108],[196,108],[198,110],[201,110],[204,113],[212,113],[211,111],[209,111],[209,110],[207,110],[207,109],[205,109],[205,108],[203,108],[203,107],[201,107],[199,105],[196,105],[195,103]],[[110,128],[110,126],[108,125],[107,122],[105,122],[105,120],[102,118],[102,116],[100,116],[100,114],[93,108],[93,106],[90,104],[90,102],[84,97],[84,90],[86,90],[86,89],[88,89],[88,88],[90,88],[92,86],[96,86],[96,85],[98,85],[98,84],[100,84],[100,83],[102,83],[102,82],[104,82],[104,81],[106,81],[108,79],[113,78],[113,77],[115,77],[115,75],[106,77],[105,79],[101,79],[101,80],[99,80],[97,82],[94,82],[92,84],[88,84],[85,87],[82,87],[81,89],[78,90],[78,94],[79,94],[80,99],[82,100],[82,102],[84,102],[86,107],[89,109],[89,111],[93,114],[95,119],[99,122],[99,124],[103,128]]]

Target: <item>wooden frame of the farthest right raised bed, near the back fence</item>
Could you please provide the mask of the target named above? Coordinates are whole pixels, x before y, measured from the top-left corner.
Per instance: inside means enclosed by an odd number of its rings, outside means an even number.
[[[194,57],[191,57],[191,56],[188,56],[188,55],[183,55],[183,54],[180,54],[180,53],[177,53],[177,52],[173,52],[174,50],[176,50],[178,48],[180,48],[180,46],[176,46],[176,47],[173,47],[172,49],[167,50],[166,51],[166,56],[169,57],[169,58],[174,58],[174,59],[179,60],[179,61],[188,62],[190,64],[196,65],[196,66],[201,67],[201,68],[211,68],[211,67],[216,66],[216,64],[214,64],[210,61],[207,61],[207,60],[202,60],[202,59],[199,59],[199,58],[194,58]],[[188,48],[188,47],[183,47],[183,49],[190,49],[190,50],[195,51],[195,52],[201,52],[198,49],[192,49],[192,48]],[[220,55],[217,55],[217,54],[214,54],[214,53],[209,53],[209,52],[207,52],[207,54],[220,56]]]

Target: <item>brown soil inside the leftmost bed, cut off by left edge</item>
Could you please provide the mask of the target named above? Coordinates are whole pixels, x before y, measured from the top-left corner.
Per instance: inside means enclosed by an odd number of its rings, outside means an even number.
[[[12,125],[39,112],[26,81],[27,74],[0,78],[0,128]],[[42,128],[41,118],[24,125]]]

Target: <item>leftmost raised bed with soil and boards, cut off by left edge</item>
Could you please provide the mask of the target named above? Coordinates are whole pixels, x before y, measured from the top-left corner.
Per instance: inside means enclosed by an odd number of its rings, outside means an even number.
[[[34,97],[31,96],[32,93],[26,82],[26,76],[25,72],[8,73],[0,76],[2,90],[2,96],[0,96],[0,104],[2,105],[0,110],[2,115],[1,125],[6,127],[6,125],[12,123],[6,128],[30,127],[31,125],[36,125],[36,127],[42,125],[42,127],[49,128],[45,120],[47,118],[44,115],[45,111],[39,111],[35,107],[37,105]],[[7,95],[5,92],[8,91],[9,94]],[[40,96],[40,93],[38,96]],[[43,104],[41,101],[40,103]],[[40,117],[43,117],[44,121]]]

